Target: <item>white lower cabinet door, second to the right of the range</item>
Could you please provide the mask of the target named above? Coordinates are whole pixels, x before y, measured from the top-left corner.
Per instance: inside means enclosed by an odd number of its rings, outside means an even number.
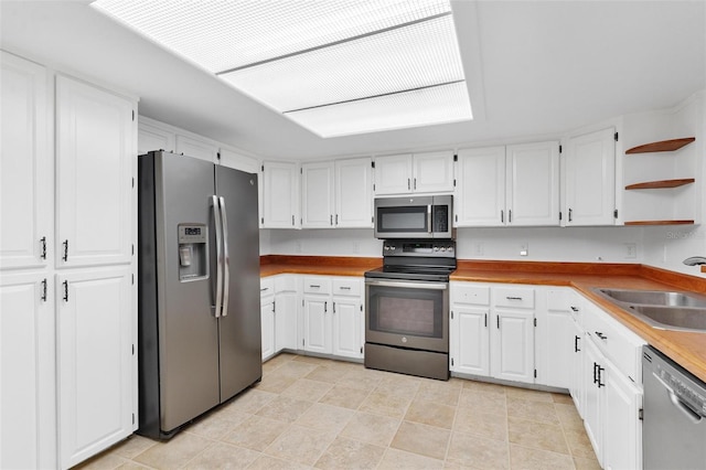
[[[495,310],[491,324],[491,374],[534,383],[534,312]]]

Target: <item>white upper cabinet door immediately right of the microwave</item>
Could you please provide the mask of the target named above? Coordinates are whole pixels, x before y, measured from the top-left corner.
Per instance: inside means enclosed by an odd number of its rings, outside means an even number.
[[[505,224],[505,148],[459,151],[454,223],[458,227]]]

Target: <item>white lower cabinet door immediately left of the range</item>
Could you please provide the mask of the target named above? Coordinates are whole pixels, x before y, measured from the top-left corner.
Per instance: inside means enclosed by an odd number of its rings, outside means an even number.
[[[361,300],[333,298],[333,354],[343,357],[363,356],[361,337]]]

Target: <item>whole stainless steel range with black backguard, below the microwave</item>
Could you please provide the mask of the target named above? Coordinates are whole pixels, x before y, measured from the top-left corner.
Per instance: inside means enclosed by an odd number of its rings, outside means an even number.
[[[388,239],[365,273],[365,366],[449,378],[449,276],[456,242]]]

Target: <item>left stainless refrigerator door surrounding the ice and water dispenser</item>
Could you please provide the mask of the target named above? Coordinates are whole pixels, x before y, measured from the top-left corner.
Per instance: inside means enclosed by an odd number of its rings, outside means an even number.
[[[220,402],[218,320],[213,270],[213,164],[171,153],[158,153],[156,170],[156,231],[159,306],[159,367],[162,431],[170,431]],[[179,278],[180,223],[208,227],[211,249],[207,278]]]

